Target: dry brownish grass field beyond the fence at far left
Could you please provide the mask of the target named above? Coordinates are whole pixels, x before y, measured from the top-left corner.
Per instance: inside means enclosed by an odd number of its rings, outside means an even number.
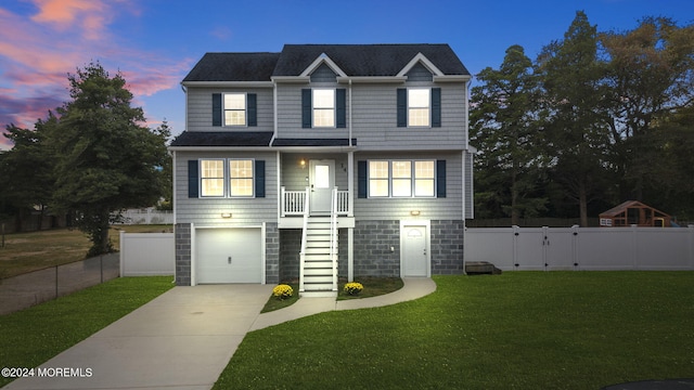
[[[116,225],[108,231],[114,248],[118,250],[119,230],[128,233],[160,233],[171,225]],[[38,271],[83,260],[91,247],[89,238],[78,230],[53,229],[5,236],[0,248],[0,278]]]

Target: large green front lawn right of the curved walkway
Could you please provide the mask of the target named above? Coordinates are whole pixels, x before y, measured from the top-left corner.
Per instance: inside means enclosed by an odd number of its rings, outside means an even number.
[[[599,389],[694,377],[694,272],[435,276],[249,333],[216,389]]]

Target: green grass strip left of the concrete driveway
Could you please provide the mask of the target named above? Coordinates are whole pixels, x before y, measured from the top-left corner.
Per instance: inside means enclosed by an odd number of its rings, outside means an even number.
[[[36,367],[171,288],[171,276],[119,277],[0,316],[0,364]],[[0,378],[0,387],[10,382]]]

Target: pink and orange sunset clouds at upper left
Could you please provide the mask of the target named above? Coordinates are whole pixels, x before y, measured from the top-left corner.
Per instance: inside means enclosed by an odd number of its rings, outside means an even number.
[[[120,72],[136,102],[177,88],[190,69],[190,60],[138,48],[114,32],[119,21],[140,15],[134,0],[23,2],[33,6],[0,5],[0,132],[9,123],[33,128],[68,101],[67,75],[93,61],[112,76]]]

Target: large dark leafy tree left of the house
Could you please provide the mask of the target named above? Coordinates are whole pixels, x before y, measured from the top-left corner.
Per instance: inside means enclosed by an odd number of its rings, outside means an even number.
[[[141,125],[143,110],[130,106],[132,93],[120,74],[110,77],[91,63],[68,80],[72,101],[57,109],[59,129],[50,139],[56,156],[53,202],[76,212],[93,256],[112,250],[114,211],[151,206],[162,196],[166,135]]]

